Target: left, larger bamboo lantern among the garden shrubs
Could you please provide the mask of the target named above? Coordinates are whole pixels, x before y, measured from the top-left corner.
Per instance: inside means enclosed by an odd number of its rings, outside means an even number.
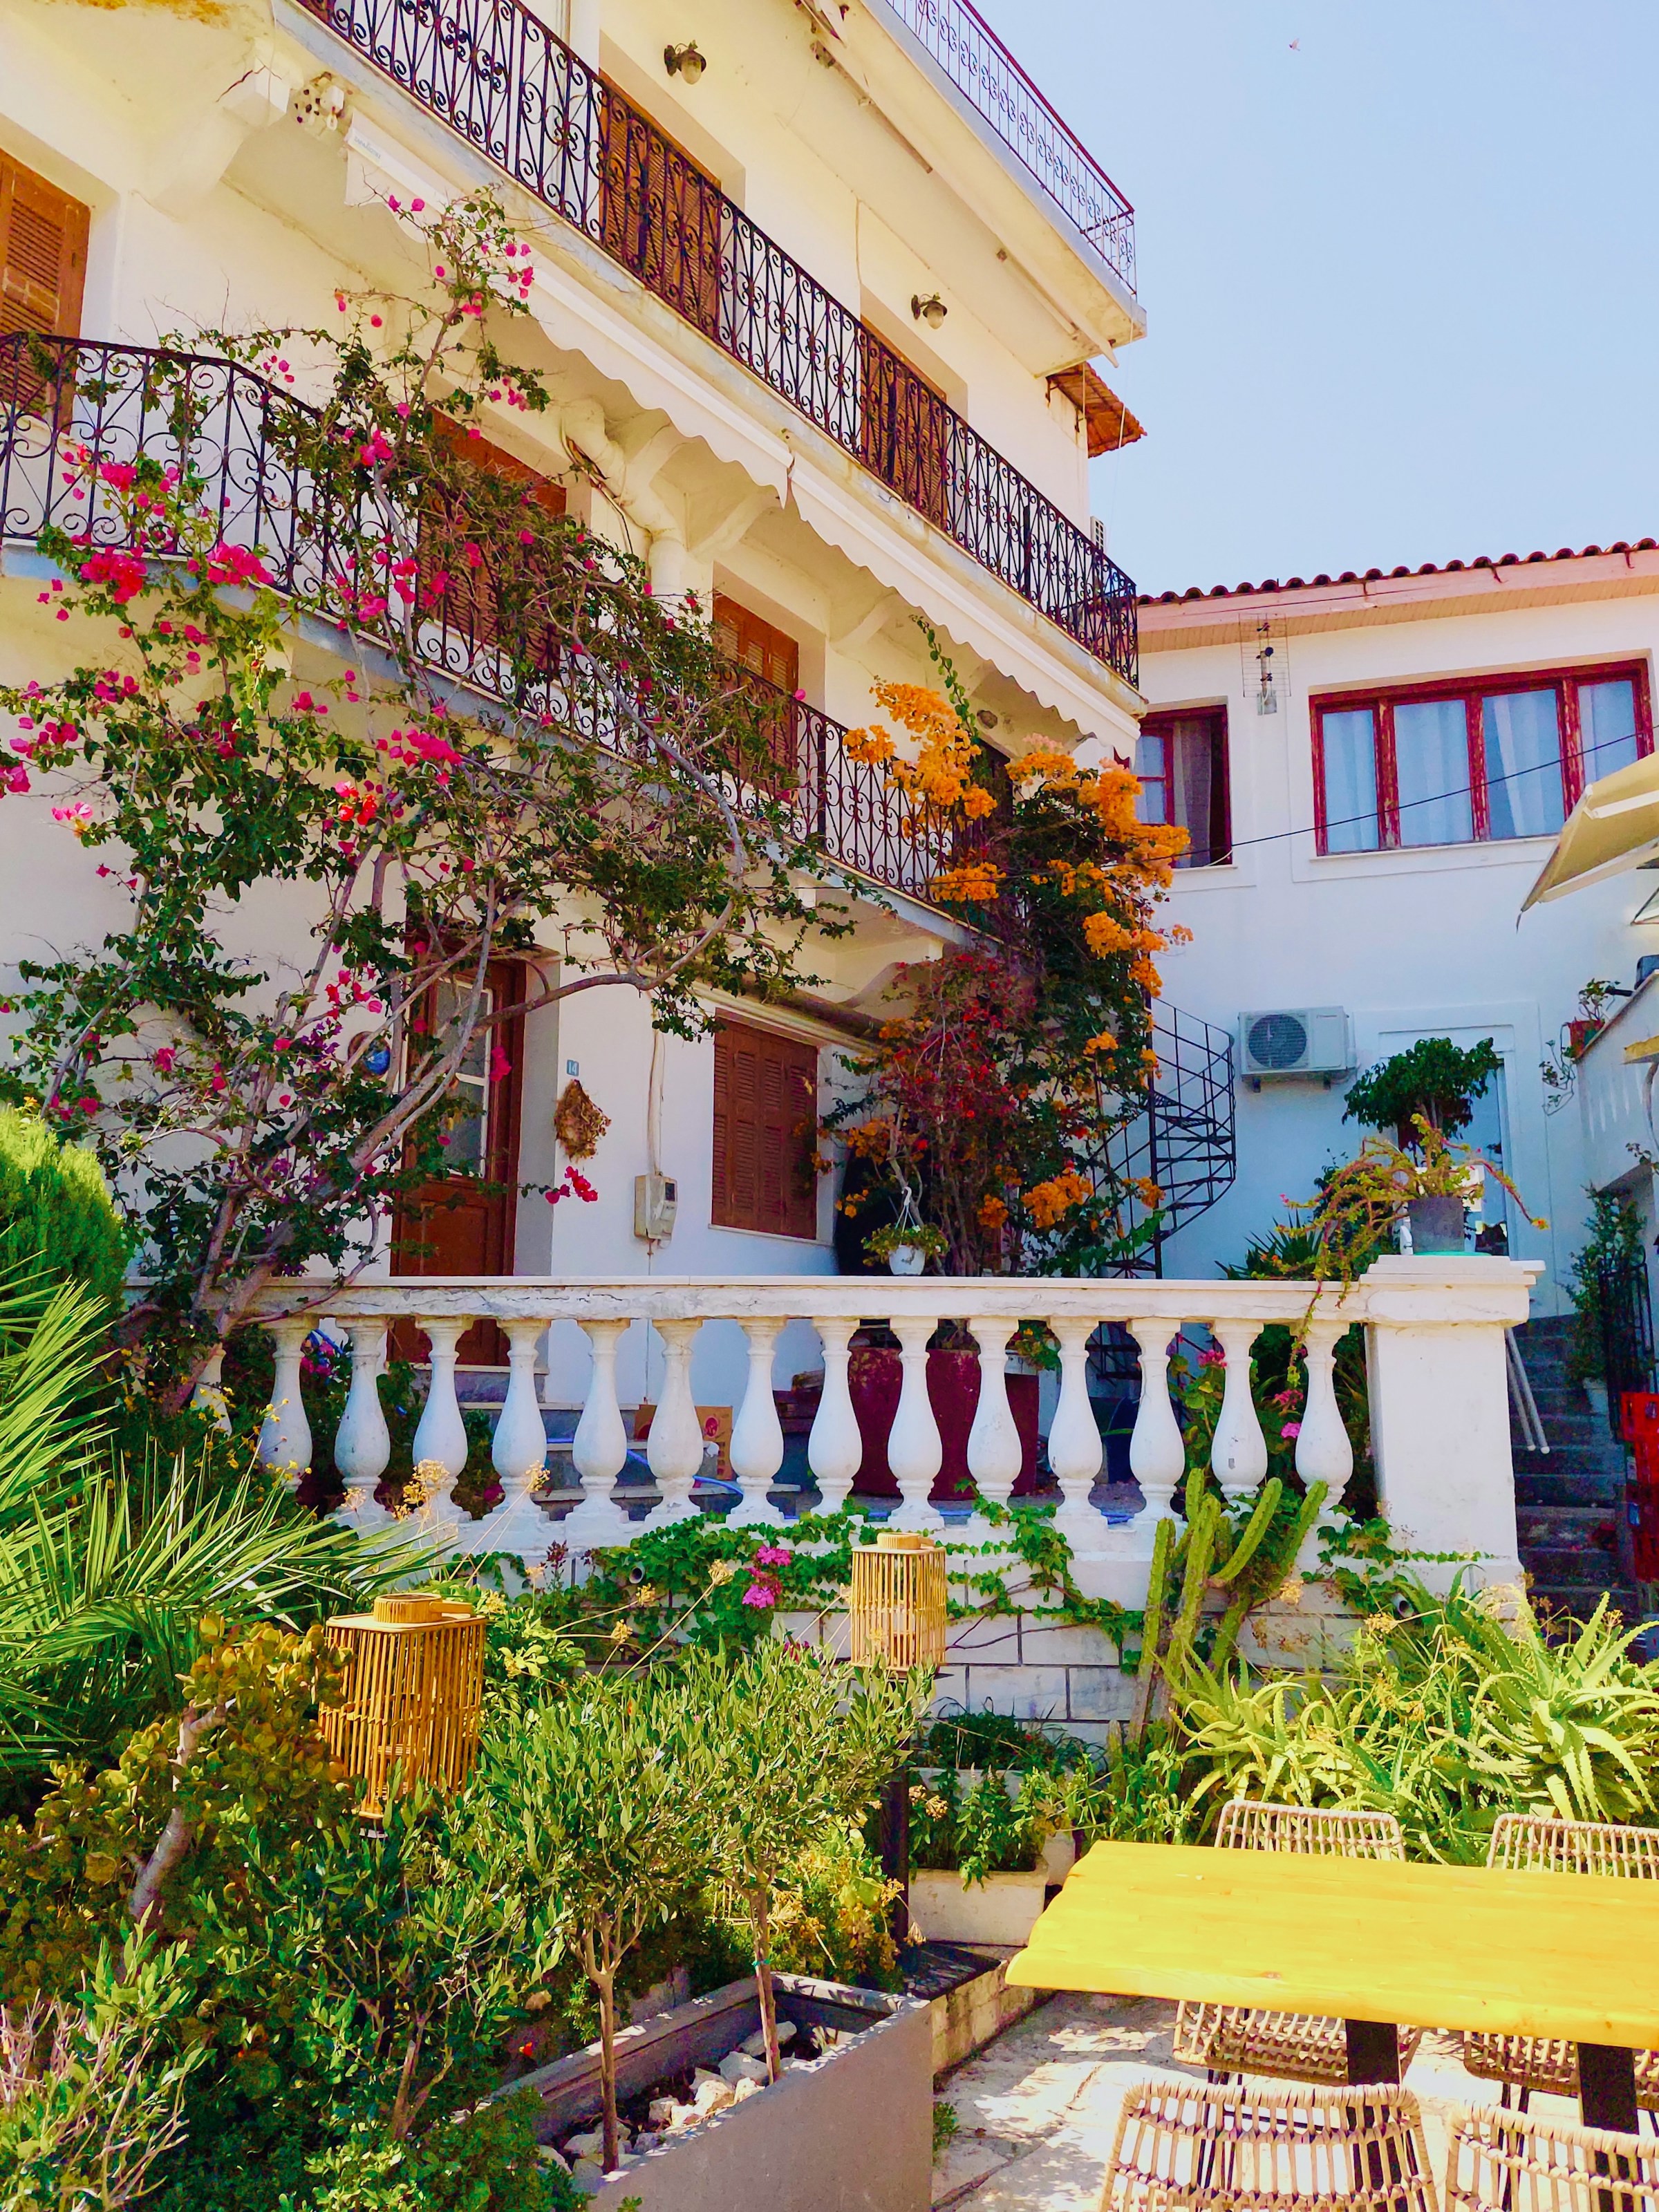
[[[374,1613],[327,1624],[345,1652],[345,1701],[323,1708],[323,1736],[363,1783],[358,1812],[385,1812],[392,1770],[403,1783],[458,1790],[478,1752],[484,1703],[484,1621],[447,1597],[376,1597]]]

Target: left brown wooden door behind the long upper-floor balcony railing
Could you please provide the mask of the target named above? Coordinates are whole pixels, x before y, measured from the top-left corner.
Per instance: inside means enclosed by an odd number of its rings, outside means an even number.
[[[721,332],[726,195],[701,161],[611,86],[599,113],[599,243],[697,323]]]

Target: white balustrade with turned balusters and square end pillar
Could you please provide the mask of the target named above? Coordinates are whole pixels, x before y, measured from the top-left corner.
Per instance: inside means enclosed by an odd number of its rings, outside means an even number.
[[[1336,1287],[1287,1281],[1093,1281],[918,1276],[745,1276],[699,1281],[624,1276],[573,1281],[442,1281],[272,1283],[259,1318],[272,1329],[279,1387],[261,1431],[265,1464],[296,1471],[310,1458],[299,1402],[303,1314],[325,1303],[352,1336],[352,1389],[334,1440],[334,1462],[358,1498],[356,1520],[385,1515],[372,1489],[389,1462],[389,1438],[376,1378],[385,1363],[392,1318],[418,1321],[431,1345],[431,1389],[416,1431],[416,1455],[456,1469],[465,1431],[456,1402],[453,1354],[465,1327],[487,1318],[509,1338],[509,1389],[495,1422],[493,1462],[509,1491],[484,1524],[462,1535],[471,1548],[538,1557],[551,1535],[586,1551],[622,1544],[630,1524],[617,1493],[628,1442],[617,1396],[617,1354],[633,1323],[655,1327],[664,1378],[646,1458],[657,1506],[644,1526],[666,1526],[697,1511],[692,1484],[703,1462],[703,1436],[692,1402],[690,1363],[706,1321],[737,1321],[745,1332],[745,1378],[730,1376],[721,1398],[739,1398],[732,1467],[743,1500],[734,1517],[774,1524],[768,1500],[783,1460],[783,1433],[772,1398],[772,1365],[790,1321],[805,1321],[823,1345],[823,1398],[807,1438],[807,1467],[825,1511],[841,1506],[863,1462],[863,1438],[849,1387],[852,1334],[872,1307],[900,1343],[900,1396],[887,1436],[887,1462],[902,1528],[940,1528],[929,1491],[942,1444],[927,1394],[927,1345],[940,1321],[971,1329],[980,1356],[980,1402],[969,1436],[969,1471],[987,1502],[1013,1489],[1020,1444],[1006,1394],[1006,1345],[1022,1316],[1044,1314],[1060,1343],[1060,1402],[1048,1431],[1048,1464],[1060,1482],[1060,1526],[1073,1546],[1073,1573],[1091,1595],[1139,1604],[1146,1559],[1159,1520],[1168,1520],[1186,1471],[1186,1440],[1170,1400],[1170,1340],[1183,1325],[1206,1325],[1225,1356],[1225,1383],[1212,1469],[1230,1498],[1248,1495],[1267,1471],[1267,1442],[1250,1396],[1250,1347],[1270,1323],[1305,1332],[1307,1391],[1296,1436],[1296,1469],[1325,1482],[1332,1506],[1352,1473],[1352,1449],[1334,1391],[1336,1345],[1347,1327],[1367,1329],[1371,1436],[1385,1511],[1396,1531],[1425,1551],[1480,1553],[1489,1579],[1515,1579],[1515,1511],[1509,1462],[1504,1327],[1526,1318],[1537,1270],[1502,1259],[1385,1259],[1338,1296]],[[285,1303],[288,1301],[288,1303]],[[294,1310],[299,1307],[299,1312]],[[546,1462],[535,1347],[555,1321],[586,1329],[593,1367],[571,1460],[582,1478],[582,1504],[553,1531],[531,1486]],[[1141,1394],[1130,1438],[1130,1471],[1144,1511],[1110,1528],[1088,1493],[1102,1469],[1102,1438],[1088,1396],[1088,1340],[1102,1323],[1121,1323],[1141,1356]],[[730,1383],[741,1383],[732,1389]],[[367,1500],[367,1502],[365,1502]],[[509,1542],[504,1542],[509,1540]],[[1451,1568],[1444,1568],[1444,1582]]]

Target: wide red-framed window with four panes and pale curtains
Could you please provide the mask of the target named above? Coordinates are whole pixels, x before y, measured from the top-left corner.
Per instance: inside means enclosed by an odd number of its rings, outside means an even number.
[[[1555,836],[1586,783],[1652,752],[1641,661],[1327,692],[1310,706],[1321,852]]]

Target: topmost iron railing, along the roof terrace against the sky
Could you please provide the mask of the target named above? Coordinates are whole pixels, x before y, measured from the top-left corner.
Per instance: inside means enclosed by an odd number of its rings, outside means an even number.
[[[878,0],[940,64],[1048,199],[1135,290],[1135,208],[1055,115],[971,0]]]

